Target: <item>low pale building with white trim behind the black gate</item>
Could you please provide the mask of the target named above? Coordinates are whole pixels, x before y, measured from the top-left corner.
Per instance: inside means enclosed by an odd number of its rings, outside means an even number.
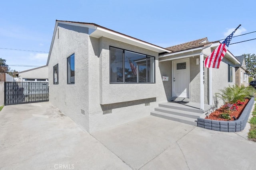
[[[16,74],[20,82],[48,82],[48,66],[24,70]]]

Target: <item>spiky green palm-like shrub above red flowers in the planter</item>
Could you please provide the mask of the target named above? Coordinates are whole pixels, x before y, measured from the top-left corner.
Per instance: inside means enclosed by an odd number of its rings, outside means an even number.
[[[238,100],[244,101],[245,98],[250,98],[255,95],[255,89],[252,86],[237,85],[228,86],[222,90],[221,93],[216,93],[216,96],[224,101],[224,103],[235,104]]]

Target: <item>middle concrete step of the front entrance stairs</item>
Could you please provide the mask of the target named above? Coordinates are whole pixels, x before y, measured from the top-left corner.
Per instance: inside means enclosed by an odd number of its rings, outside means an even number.
[[[190,117],[197,119],[200,116],[202,116],[202,113],[196,113],[192,111],[184,111],[180,109],[170,109],[168,107],[156,107],[155,111],[163,112],[163,113],[168,113],[172,115],[178,115],[178,116],[183,116],[183,117]]]

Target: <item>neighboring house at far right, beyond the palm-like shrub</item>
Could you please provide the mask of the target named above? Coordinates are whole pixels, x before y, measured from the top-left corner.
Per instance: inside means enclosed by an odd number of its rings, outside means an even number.
[[[246,70],[246,61],[245,56],[237,56],[239,64],[236,64],[236,85],[239,87],[244,85],[245,87],[249,86],[249,79],[248,79],[248,71]]]

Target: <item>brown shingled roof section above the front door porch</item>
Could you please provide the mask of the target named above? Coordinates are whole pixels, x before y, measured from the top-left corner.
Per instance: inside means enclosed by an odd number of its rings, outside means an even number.
[[[187,43],[174,45],[172,47],[167,47],[166,49],[169,49],[172,52],[179,52],[179,51],[185,51],[185,50],[189,50],[189,49],[195,49],[198,47],[204,47],[204,46],[214,43],[214,42],[209,42],[207,37],[205,37],[205,38],[197,39],[197,40],[190,41]]]

